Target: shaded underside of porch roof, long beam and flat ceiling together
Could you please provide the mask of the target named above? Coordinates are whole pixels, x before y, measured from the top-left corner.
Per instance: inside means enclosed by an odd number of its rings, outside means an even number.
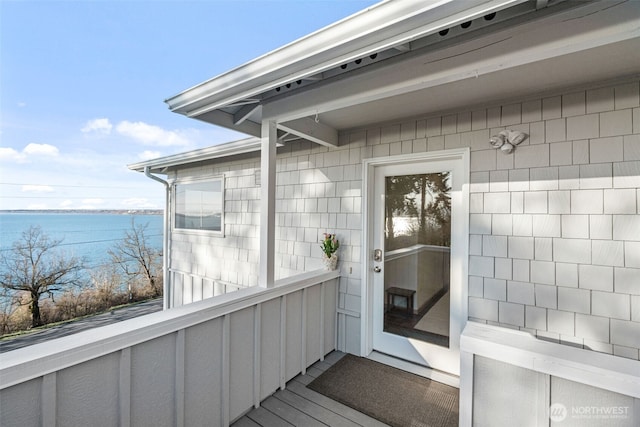
[[[592,3],[309,88],[263,105],[282,121],[336,129],[470,109],[640,73],[640,2]]]

